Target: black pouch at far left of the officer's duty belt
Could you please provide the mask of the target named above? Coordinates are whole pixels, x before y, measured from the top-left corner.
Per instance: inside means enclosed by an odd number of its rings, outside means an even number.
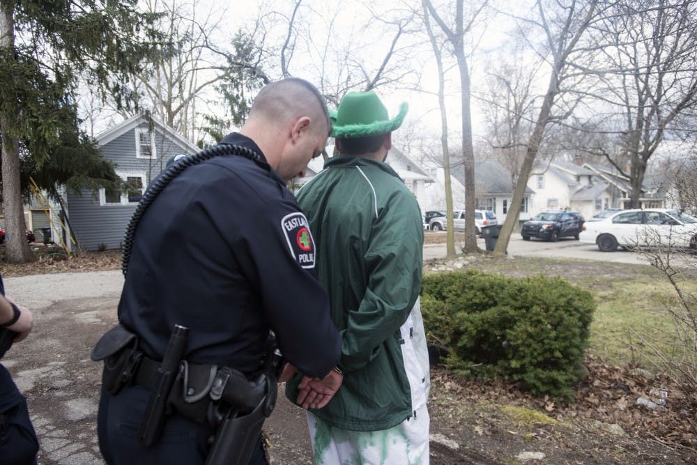
[[[117,394],[133,383],[143,353],[138,350],[138,337],[121,325],[114,326],[95,344],[90,358],[104,360],[102,386]]]

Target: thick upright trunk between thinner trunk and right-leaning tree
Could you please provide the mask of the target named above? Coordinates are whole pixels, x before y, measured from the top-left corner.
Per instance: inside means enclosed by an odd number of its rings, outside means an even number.
[[[463,252],[479,252],[475,233],[475,155],[470,114],[470,73],[462,45],[455,47],[462,91],[462,160],[465,168],[465,246]]]

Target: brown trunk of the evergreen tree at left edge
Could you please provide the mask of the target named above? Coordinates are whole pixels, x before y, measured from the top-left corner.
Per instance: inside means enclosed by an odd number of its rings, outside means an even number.
[[[0,47],[3,49],[12,49],[15,46],[13,3],[7,0],[0,1]],[[24,232],[26,224],[20,190],[19,141],[10,135],[8,128],[8,121],[0,119],[5,252],[8,263],[24,263],[31,259],[31,251]]]

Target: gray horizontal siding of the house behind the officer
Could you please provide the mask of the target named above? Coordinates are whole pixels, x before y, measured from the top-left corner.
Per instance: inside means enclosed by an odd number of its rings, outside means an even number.
[[[130,176],[141,178],[143,190],[162,171],[169,157],[195,153],[192,144],[176,141],[156,127],[151,139],[155,142],[155,157],[137,158],[136,131],[137,128],[147,131],[147,127],[141,123],[101,147],[104,158],[114,163],[116,174],[124,180]],[[121,196],[121,203],[109,203],[103,190],[96,197],[89,190],[84,190],[81,196],[67,195],[68,215],[77,244],[86,250],[118,249],[123,245],[125,229],[138,203],[128,201],[125,195]]]

